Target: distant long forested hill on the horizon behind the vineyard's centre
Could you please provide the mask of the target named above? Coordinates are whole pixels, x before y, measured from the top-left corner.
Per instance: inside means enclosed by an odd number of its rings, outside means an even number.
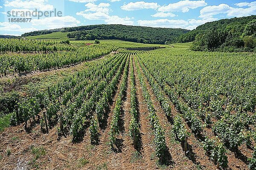
[[[61,28],[52,31],[34,31],[22,36],[49,34],[56,31],[70,32],[68,38],[75,40],[124,40],[149,44],[165,44],[189,30],[180,28],[151,28],[124,25],[92,25],[73,28]]]

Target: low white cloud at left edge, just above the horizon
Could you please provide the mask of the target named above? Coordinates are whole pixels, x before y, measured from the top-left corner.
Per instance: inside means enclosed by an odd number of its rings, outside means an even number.
[[[21,28],[21,26],[17,25],[17,24],[10,24],[7,22],[0,22],[0,31],[15,31],[15,32],[31,32],[31,31],[37,31],[38,29],[34,28],[34,27],[30,27],[30,28]]]

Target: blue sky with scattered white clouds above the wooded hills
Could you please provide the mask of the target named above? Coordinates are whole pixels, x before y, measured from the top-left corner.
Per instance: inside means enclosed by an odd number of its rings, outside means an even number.
[[[34,16],[29,16],[32,12]],[[253,0],[0,0],[0,34],[94,24],[192,30],[207,22],[250,15],[256,15]],[[31,19],[12,20],[18,18]]]

